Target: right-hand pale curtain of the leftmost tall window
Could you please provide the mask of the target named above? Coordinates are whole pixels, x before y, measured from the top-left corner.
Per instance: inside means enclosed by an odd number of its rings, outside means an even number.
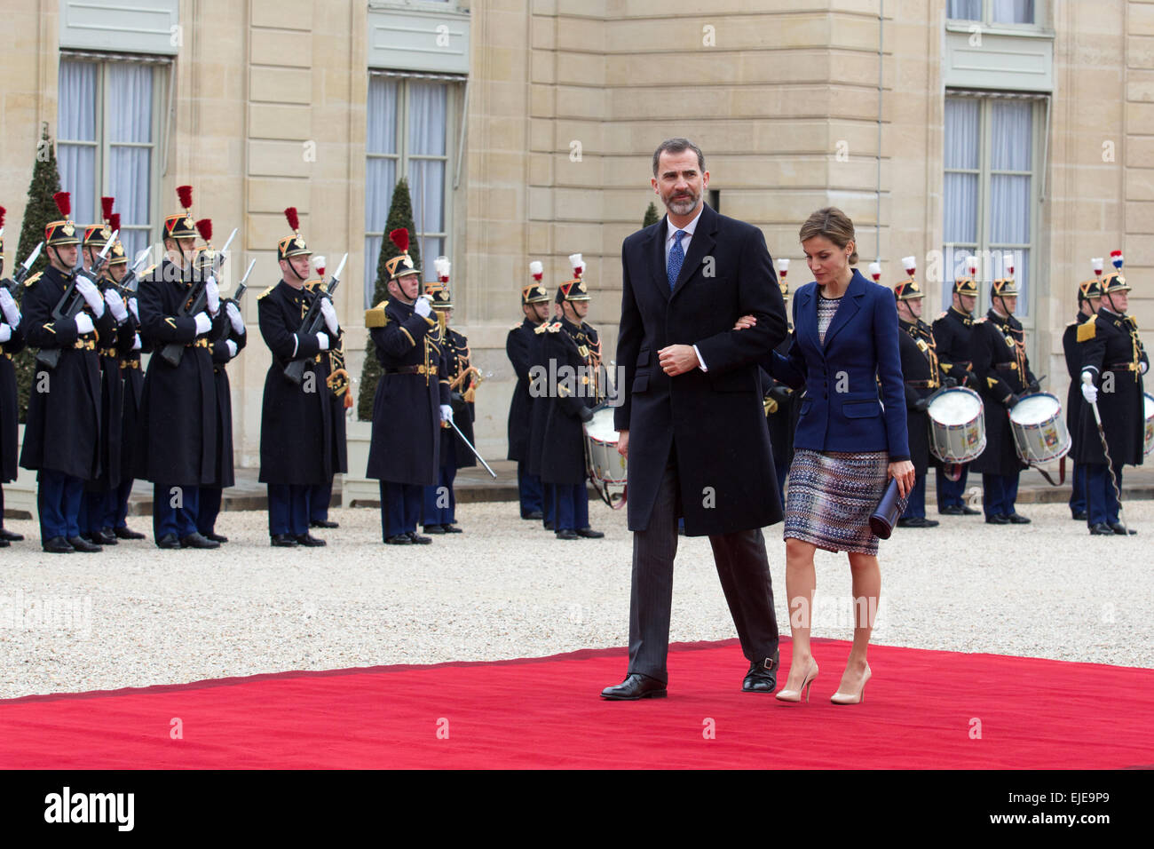
[[[149,244],[152,210],[152,83],[148,65],[107,66],[108,194],[120,213],[120,241],[129,258]],[[149,146],[149,147],[140,147]]]

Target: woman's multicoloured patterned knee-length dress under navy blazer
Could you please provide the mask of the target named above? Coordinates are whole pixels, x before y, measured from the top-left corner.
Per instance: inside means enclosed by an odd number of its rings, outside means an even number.
[[[817,299],[817,335],[825,332],[841,298]],[[782,538],[801,539],[826,551],[877,554],[869,517],[889,482],[887,452],[816,452],[799,448],[789,466]],[[905,500],[900,508],[905,512]]]

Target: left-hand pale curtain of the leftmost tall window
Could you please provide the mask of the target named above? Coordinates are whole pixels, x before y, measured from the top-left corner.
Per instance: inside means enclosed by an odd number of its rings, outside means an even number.
[[[72,193],[73,221],[81,225],[95,222],[99,213],[96,204],[97,72],[98,66],[93,62],[60,61],[57,163],[61,187]]]

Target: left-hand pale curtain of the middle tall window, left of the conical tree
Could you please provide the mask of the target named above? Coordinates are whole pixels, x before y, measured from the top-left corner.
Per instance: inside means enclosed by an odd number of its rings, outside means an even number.
[[[369,77],[368,117],[365,150],[369,154],[365,172],[365,306],[373,306],[376,289],[376,263],[381,258],[381,243],[389,219],[392,189],[397,185],[397,161],[373,154],[397,152],[397,89],[396,80]],[[367,233],[377,233],[369,236]]]

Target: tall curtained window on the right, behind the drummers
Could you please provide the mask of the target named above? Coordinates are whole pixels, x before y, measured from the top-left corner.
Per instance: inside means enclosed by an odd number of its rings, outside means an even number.
[[[1018,314],[1031,313],[1031,261],[1037,201],[1034,191],[1036,99],[947,97],[945,100],[943,301],[965,258],[979,258],[982,304],[989,283],[1013,256]]]

